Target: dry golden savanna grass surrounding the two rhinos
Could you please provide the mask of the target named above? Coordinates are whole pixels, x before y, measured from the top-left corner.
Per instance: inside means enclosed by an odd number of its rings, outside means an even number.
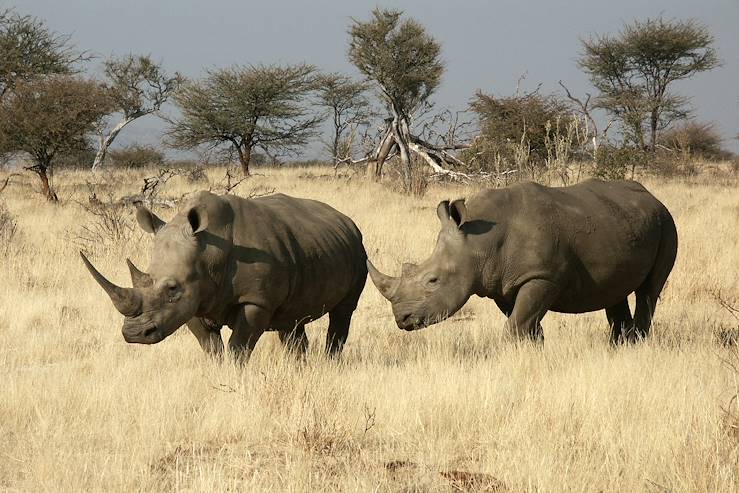
[[[393,274],[431,252],[438,201],[474,191],[433,185],[416,198],[328,168],[259,173],[235,192],[333,205]],[[222,175],[175,178],[162,194]],[[126,344],[84,269],[80,249],[118,284],[130,285],[127,256],[147,266],[132,207],[119,233],[90,233],[100,219],[86,185],[118,198],[144,176],[59,173],[61,205],[31,176],[0,196],[17,225],[0,236],[0,489],[739,490],[739,322],[719,302],[739,304],[736,178],[643,180],[675,217],[680,248],[653,335],[636,345],[610,347],[602,312],[549,314],[543,346],[514,343],[479,298],[405,333],[368,281],[340,360],[322,354],[321,319],[305,363],[268,333],[241,368],[208,359],[187,329]]]

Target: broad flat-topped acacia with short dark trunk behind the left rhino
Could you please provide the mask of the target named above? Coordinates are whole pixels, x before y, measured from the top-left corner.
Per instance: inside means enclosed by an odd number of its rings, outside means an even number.
[[[312,65],[234,66],[208,72],[174,96],[181,116],[168,137],[173,146],[224,147],[249,175],[252,151],[290,153],[304,146],[320,123],[305,104],[315,89]]]

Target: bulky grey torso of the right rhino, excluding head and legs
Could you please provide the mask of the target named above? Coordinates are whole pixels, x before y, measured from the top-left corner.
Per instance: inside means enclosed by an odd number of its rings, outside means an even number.
[[[563,288],[553,307],[562,312],[604,308],[636,289],[654,264],[669,216],[630,181],[587,180],[561,188],[525,183],[482,192],[469,202],[471,216],[498,223],[504,236],[496,250],[503,270],[494,272],[499,291],[510,297],[527,280],[552,280]]]

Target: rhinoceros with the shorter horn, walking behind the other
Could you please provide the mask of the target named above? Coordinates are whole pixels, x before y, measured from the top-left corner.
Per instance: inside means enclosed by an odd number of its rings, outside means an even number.
[[[633,181],[521,183],[441,202],[437,215],[441,232],[425,262],[393,278],[367,261],[401,329],[443,320],[476,294],[492,298],[519,337],[543,338],[550,310],[605,309],[611,341],[633,341],[649,333],[677,254],[672,216]]]

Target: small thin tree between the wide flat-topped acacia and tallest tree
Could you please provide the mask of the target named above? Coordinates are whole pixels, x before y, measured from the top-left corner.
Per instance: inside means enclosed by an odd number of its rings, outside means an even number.
[[[351,157],[351,149],[342,156],[343,135],[347,130],[367,123],[370,105],[367,100],[367,83],[352,80],[343,74],[325,74],[318,79],[318,98],[321,106],[329,111],[334,126],[328,147],[334,164]]]

